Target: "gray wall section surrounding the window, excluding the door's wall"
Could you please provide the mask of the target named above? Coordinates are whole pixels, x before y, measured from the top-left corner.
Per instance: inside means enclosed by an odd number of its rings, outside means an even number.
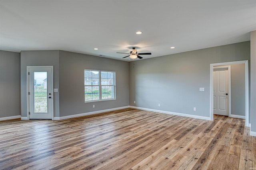
[[[60,51],[59,60],[60,116],[129,106],[128,62],[67,51]],[[115,71],[116,100],[84,103],[84,69]]]

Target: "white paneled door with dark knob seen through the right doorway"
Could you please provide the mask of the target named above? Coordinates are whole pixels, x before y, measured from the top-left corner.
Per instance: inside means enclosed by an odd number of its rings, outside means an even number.
[[[213,71],[213,112],[228,116],[228,68]]]

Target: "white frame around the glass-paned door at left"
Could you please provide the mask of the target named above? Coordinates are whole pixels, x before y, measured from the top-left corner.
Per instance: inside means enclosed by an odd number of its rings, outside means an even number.
[[[54,93],[53,93],[53,66],[27,66],[27,118],[28,120],[30,119],[30,115],[29,115],[29,112],[30,112],[30,103],[29,103],[29,95],[28,95],[28,92],[29,92],[29,69],[30,68],[52,68],[52,100],[50,100],[52,102],[52,120],[54,119]]]

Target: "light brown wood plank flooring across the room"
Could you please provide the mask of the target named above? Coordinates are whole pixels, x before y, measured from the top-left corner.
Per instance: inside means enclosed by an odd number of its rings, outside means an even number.
[[[139,109],[0,123],[0,169],[255,170],[244,119],[214,121]]]

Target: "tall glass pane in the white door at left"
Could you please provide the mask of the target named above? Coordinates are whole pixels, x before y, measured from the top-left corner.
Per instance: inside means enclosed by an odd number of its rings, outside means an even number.
[[[47,72],[34,72],[34,113],[47,110]]]

